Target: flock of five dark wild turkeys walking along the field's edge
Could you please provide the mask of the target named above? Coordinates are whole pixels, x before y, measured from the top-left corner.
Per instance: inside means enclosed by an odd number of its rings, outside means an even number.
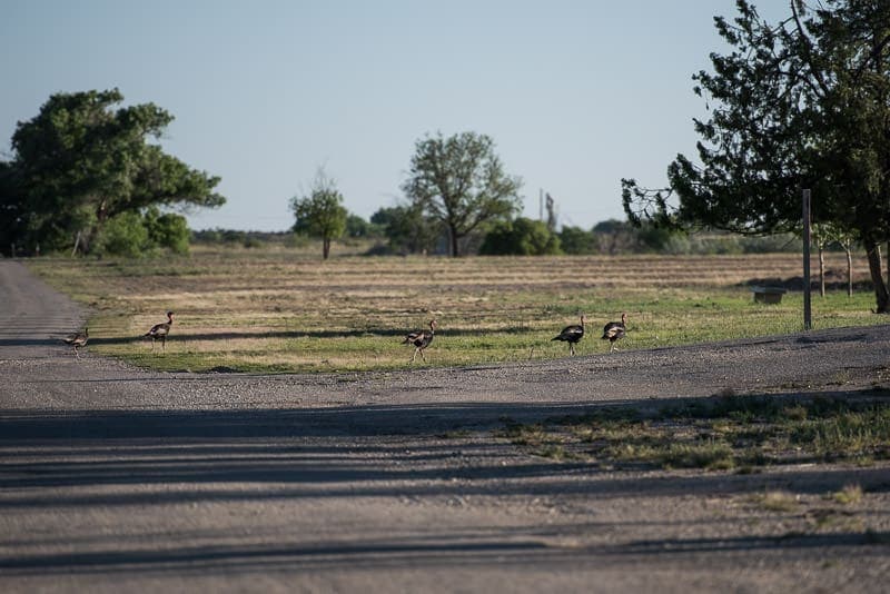
[[[584,324],[587,321],[586,316],[581,316],[581,324],[572,324],[571,326],[566,326],[563,330],[554,336],[552,340],[562,340],[564,343],[568,343],[568,353],[571,355],[575,354],[575,345],[584,338]],[[621,315],[621,321],[610,321],[603,327],[603,340],[609,340],[611,344],[611,348],[609,349],[610,353],[613,350],[617,350],[615,347],[615,343],[621,338],[624,338],[624,334],[627,331],[626,327],[627,323],[627,314]],[[151,338],[151,352],[155,352],[155,344],[160,340],[161,350],[167,349],[167,335],[170,334],[170,328],[174,325],[174,313],[167,311],[167,321],[162,321],[160,324],[155,324],[151,328],[142,335],[142,337]],[[433,344],[433,338],[436,335],[436,326],[438,323],[435,319],[429,320],[429,329],[428,330],[414,330],[408,333],[405,336],[405,339],[402,341],[403,345],[412,345],[414,346],[414,356],[412,357],[411,362],[414,363],[417,360],[417,355],[421,355],[421,358],[426,363],[426,356],[424,356],[424,350],[431,344]],[[80,354],[78,349],[82,346],[87,345],[87,340],[89,340],[90,334],[89,328],[83,328],[82,333],[75,333],[69,335],[65,338],[65,343],[71,345],[75,348],[75,356],[80,358]]]

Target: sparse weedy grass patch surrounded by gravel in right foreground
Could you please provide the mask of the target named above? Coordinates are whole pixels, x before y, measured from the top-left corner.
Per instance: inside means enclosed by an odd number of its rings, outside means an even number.
[[[534,425],[507,423],[500,436],[534,455],[610,468],[751,473],[771,465],[890,458],[890,402],[726,395],[647,410],[601,407]],[[856,487],[832,498],[853,503]]]

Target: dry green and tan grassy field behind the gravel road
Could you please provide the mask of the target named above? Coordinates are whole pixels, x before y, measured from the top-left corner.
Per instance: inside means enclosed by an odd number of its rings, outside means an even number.
[[[411,365],[404,334],[438,320],[427,363],[457,366],[565,357],[551,341],[587,316],[580,355],[607,353],[603,324],[627,313],[620,348],[640,349],[802,329],[802,294],[755,304],[749,284],[801,276],[794,255],[623,257],[362,257],[322,261],[281,247],[194,248],[150,260],[40,258],[31,270],[90,306],[89,350],[167,370],[334,372]],[[813,270],[817,261],[813,259]],[[867,280],[864,259],[854,261]],[[843,255],[828,258],[833,281]],[[813,327],[886,321],[873,295],[813,296]],[[141,338],[176,313],[165,353]],[[72,328],[73,329],[73,328]],[[158,345],[159,346],[159,345]]]

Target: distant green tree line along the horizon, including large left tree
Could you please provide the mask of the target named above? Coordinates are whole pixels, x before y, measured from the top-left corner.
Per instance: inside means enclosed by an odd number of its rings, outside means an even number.
[[[149,142],[172,121],[169,113],[151,103],[119,107],[122,100],[117,89],[53,95],[37,117],[19,122],[12,158],[0,160],[2,253],[137,257],[161,249],[185,254],[190,241],[254,247],[280,237],[191,232],[185,217],[170,208],[222,205],[225,198],[214,191],[219,178],[190,169]],[[379,208],[369,220],[348,211],[336,180],[319,168],[309,188],[290,198],[295,222],[287,245],[317,238],[324,258],[344,238],[369,240],[370,254],[453,257],[800,249],[800,239],[789,234],[689,232],[641,217],[630,217],[633,225],[613,219],[591,229],[557,229],[550,196],[546,221],[520,216],[521,188],[522,180],[505,171],[490,137],[427,135],[415,143],[400,204]],[[824,247],[830,241],[820,244]]]

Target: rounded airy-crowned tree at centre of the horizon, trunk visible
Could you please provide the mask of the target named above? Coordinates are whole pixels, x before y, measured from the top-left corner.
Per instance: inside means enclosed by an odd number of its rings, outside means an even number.
[[[414,206],[442,221],[456,257],[461,239],[522,208],[521,187],[520,178],[504,172],[490,137],[463,132],[418,140],[403,190]]]

